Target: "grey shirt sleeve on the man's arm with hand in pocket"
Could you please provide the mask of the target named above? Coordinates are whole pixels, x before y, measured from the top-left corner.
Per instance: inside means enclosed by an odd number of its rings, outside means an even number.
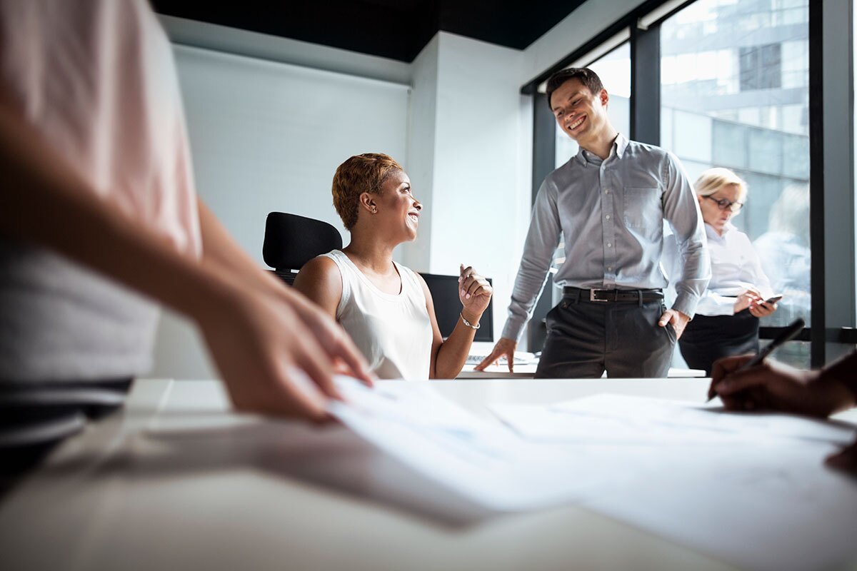
[[[673,309],[693,317],[711,277],[711,262],[696,193],[672,153],[667,153],[663,184],[663,216],[673,229],[681,268]]]

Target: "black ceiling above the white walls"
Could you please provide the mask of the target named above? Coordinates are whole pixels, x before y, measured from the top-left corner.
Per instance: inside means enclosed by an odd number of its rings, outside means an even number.
[[[523,50],[585,0],[152,0],[156,12],[412,62],[439,30]]]

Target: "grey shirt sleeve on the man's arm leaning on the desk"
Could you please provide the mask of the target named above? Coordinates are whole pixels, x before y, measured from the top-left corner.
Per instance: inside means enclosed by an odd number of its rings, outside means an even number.
[[[503,328],[502,336],[508,339],[518,341],[548,277],[551,258],[560,244],[562,228],[556,198],[556,186],[548,180],[543,181],[533,204],[524,254],[512,288],[509,317]]]

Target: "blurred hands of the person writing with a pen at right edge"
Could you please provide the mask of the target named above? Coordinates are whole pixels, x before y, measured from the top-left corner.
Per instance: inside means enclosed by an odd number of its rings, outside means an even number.
[[[741,371],[752,355],[716,361],[709,396],[728,410],[772,410],[826,419],[857,406],[857,351],[818,371],[802,371],[765,360]],[[830,455],[828,466],[857,475],[857,442]]]

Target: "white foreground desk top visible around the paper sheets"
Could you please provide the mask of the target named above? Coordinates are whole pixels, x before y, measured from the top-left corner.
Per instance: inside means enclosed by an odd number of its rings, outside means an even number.
[[[493,418],[487,402],[544,403],[599,392],[702,401],[708,381],[432,385]],[[2,567],[729,568],[573,506],[451,526],[378,503],[314,478],[345,466],[337,448],[338,434],[351,436],[344,428],[238,416],[225,412],[224,403],[213,382],[138,381],[123,413],[63,443],[0,503]],[[346,474],[354,481],[361,476],[353,469]]]

